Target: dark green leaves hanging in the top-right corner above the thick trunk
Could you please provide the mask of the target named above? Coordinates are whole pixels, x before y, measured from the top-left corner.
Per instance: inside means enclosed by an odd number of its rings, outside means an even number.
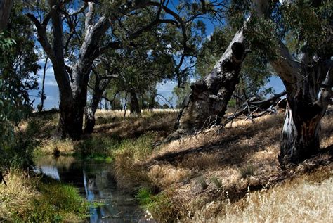
[[[304,50],[311,54],[332,52],[332,8],[331,1],[317,5],[306,0],[280,6],[283,32],[296,40],[296,53]]]

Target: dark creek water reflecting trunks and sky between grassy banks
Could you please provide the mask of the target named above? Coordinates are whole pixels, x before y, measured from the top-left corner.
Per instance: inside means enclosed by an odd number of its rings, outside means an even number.
[[[148,222],[133,196],[117,189],[110,174],[110,164],[68,156],[46,156],[39,158],[36,163],[37,172],[74,185],[87,200],[103,203],[90,208],[87,222]]]

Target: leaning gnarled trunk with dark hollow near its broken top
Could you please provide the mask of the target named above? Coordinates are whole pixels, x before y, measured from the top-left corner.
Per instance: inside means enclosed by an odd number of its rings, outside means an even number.
[[[168,141],[208,127],[213,120],[219,122],[239,82],[246,56],[244,40],[243,30],[240,30],[209,75],[191,85],[190,95],[183,102],[176,121],[176,132],[168,137]]]

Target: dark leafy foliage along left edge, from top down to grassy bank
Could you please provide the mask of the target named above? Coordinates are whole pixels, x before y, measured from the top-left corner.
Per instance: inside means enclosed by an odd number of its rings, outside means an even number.
[[[38,87],[35,50],[33,25],[22,15],[22,4],[15,4],[0,34],[0,172],[32,162],[30,140],[23,143],[14,127],[31,112],[28,91]]]

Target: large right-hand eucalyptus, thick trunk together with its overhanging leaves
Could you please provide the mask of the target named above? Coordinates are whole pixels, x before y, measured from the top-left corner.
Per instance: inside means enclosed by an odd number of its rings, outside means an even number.
[[[275,3],[264,11],[265,20],[259,21],[279,22],[268,27],[277,30],[270,32],[276,46],[270,64],[287,89],[288,106],[279,155],[282,167],[320,151],[320,121],[333,87],[332,6],[330,1],[316,0]],[[287,35],[296,42],[295,51],[286,46]]]

